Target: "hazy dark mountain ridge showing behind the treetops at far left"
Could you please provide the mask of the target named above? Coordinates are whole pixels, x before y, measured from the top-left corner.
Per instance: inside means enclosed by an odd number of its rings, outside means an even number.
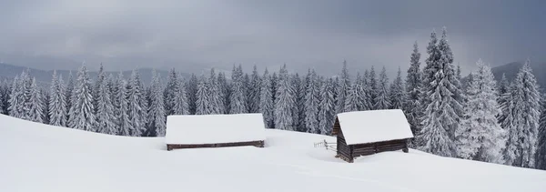
[[[17,75],[20,75],[21,72],[23,72],[27,68],[30,70],[30,76],[34,76],[36,78],[36,82],[38,82],[40,86],[48,86],[51,83],[51,78],[53,77],[53,71],[54,71],[53,69],[41,70],[41,69],[29,68],[25,66],[14,66],[14,65],[9,65],[5,63],[0,63],[0,79],[14,78]],[[138,69],[141,80],[145,85],[149,84],[152,80],[152,70],[153,70],[152,68]],[[106,71],[106,76],[109,76],[110,74],[112,74],[114,77],[116,77],[119,74],[119,71],[108,71],[106,67],[105,67],[105,71]],[[159,74],[161,81],[165,83],[167,80],[168,72],[165,70],[158,70],[158,69],[156,71]],[[66,82],[70,71],[56,70],[56,73],[57,75],[62,75],[63,80],[65,80]],[[123,76],[127,79],[129,76],[131,76],[132,70],[126,70],[126,71],[123,71],[122,73],[123,73]],[[180,73],[180,75],[185,78],[189,78],[191,76],[190,74],[182,73],[179,71],[178,73]],[[72,71],[72,76],[76,80],[77,70]],[[91,80],[94,81],[96,79],[96,76],[97,76],[96,71],[89,71],[89,77],[91,78]]]

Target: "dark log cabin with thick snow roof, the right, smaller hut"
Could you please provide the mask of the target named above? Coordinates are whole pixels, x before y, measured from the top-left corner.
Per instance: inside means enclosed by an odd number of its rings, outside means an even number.
[[[353,162],[355,157],[383,151],[408,152],[413,137],[410,123],[400,109],[353,111],[340,113],[332,135],[337,135],[336,157]]]

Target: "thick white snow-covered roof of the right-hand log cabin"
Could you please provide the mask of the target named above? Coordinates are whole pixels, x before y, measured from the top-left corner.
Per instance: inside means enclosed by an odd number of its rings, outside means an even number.
[[[413,137],[400,109],[346,112],[338,114],[338,119],[347,145]]]

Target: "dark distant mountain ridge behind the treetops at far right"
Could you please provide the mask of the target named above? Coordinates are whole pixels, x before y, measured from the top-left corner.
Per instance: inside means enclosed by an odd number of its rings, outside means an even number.
[[[512,81],[518,72],[520,71],[521,66],[524,62],[512,62],[503,66],[495,66],[491,68],[493,76],[497,82],[501,81],[502,74],[506,76],[509,81]],[[546,91],[546,63],[533,63],[531,61],[532,74],[537,79],[541,92]]]

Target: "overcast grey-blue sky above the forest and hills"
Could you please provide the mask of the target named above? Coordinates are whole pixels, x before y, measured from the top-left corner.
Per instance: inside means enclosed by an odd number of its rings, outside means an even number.
[[[0,60],[38,68],[203,67],[256,64],[329,74],[421,61],[433,28],[446,26],[455,63],[468,71],[546,61],[546,3],[513,0],[3,0]],[[27,59],[32,57],[34,59]],[[38,58],[38,59],[36,59]],[[44,62],[39,62],[43,60]]]

